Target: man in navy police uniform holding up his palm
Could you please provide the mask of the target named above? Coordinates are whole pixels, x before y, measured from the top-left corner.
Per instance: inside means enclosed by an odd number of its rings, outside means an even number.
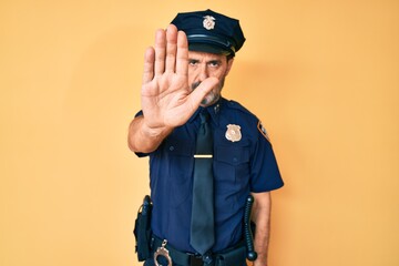
[[[283,180],[259,120],[221,96],[244,41],[238,20],[205,10],[178,13],[145,51],[142,111],[130,124],[129,146],[150,156],[152,252],[162,265],[165,257],[178,266],[246,265],[248,195],[254,265],[267,265],[270,191]],[[205,146],[211,151],[198,152]]]

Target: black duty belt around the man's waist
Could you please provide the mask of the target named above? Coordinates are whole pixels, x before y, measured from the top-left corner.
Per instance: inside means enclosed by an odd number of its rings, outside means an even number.
[[[156,250],[157,247],[161,247],[163,244],[163,241],[156,236],[152,237],[152,249]],[[221,252],[217,254],[205,254],[204,256],[201,256],[200,254],[193,254],[193,253],[184,253],[181,250],[177,250],[176,248],[172,247],[171,245],[166,244],[164,246],[172,258],[172,260],[177,265],[183,266],[214,266],[217,259],[224,259],[226,262],[234,260],[236,263],[237,258],[243,259],[245,262],[246,256],[246,248],[245,243],[239,242],[236,246],[232,248],[227,248],[225,252]],[[228,264],[226,264],[228,265]]]

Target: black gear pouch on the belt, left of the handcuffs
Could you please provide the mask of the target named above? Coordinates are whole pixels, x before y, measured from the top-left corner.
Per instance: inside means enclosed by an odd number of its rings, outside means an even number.
[[[149,195],[145,195],[143,205],[137,212],[137,218],[134,223],[134,237],[136,241],[135,252],[139,262],[144,262],[151,256],[151,213],[152,202]]]

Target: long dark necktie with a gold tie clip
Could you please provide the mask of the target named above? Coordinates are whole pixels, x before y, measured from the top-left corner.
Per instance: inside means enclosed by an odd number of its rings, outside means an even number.
[[[193,181],[193,208],[190,244],[201,255],[215,243],[214,181],[212,171],[213,137],[208,123],[209,113],[200,113],[201,126],[196,141]]]

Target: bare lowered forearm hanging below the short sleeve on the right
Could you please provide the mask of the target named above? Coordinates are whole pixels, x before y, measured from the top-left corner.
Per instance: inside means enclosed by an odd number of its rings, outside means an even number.
[[[252,218],[256,224],[254,246],[258,255],[254,266],[267,266],[272,198],[270,193],[259,193],[254,196],[255,204]]]

